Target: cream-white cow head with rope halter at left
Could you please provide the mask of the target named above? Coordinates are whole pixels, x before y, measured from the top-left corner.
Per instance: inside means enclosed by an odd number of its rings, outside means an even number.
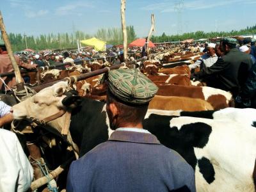
[[[13,117],[22,119],[29,116],[44,119],[64,109],[62,100],[66,97],[64,93],[68,90],[68,83],[61,81],[50,87],[44,88],[33,97],[16,104],[12,108]]]

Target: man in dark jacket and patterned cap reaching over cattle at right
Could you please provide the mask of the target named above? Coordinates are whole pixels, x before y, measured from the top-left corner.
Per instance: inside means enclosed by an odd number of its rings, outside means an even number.
[[[225,55],[218,58],[211,67],[195,72],[191,77],[205,79],[211,76],[211,81],[206,82],[207,86],[220,88],[236,96],[252,67],[250,55],[236,49],[236,44],[235,38],[223,38],[220,41],[220,49]]]

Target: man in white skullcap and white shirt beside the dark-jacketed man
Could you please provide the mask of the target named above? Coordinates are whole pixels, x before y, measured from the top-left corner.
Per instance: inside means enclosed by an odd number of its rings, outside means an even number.
[[[206,53],[199,58],[195,63],[189,65],[189,69],[200,67],[200,70],[205,67],[211,67],[218,60],[218,56],[215,53],[216,44],[208,44]]]

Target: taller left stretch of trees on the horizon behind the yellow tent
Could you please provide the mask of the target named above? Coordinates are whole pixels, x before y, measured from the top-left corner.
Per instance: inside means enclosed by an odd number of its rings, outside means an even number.
[[[29,49],[36,51],[45,49],[67,49],[77,47],[77,40],[84,40],[95,36],[100,40],[106,41],[107,44],[118,45],[123,44],[122,29],[120,28],[102,28],[98,29],[95,35],[88,35],[83,31],[74,33],[57,33],[48,35],[22,35],[20,33],[8,34],[13,51],[22,51],[26,49],[26,44]],[[133,26],[127,26],[128,43],[136,39],[136,33]],[[3,42],[0,36],[0,42]]]

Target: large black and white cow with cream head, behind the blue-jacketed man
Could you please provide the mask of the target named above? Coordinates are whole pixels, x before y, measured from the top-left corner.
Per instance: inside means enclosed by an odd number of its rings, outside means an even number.
[[[63,95],[67,89],[67,83],[62,82],[42,90],[13,106],[13,116],[42,119],[44,114],[56,113],[72,103],[72,97]],[[156,115],[150,110],[143,126],[191,164],[197,191],[254,191],[256,129],[252,126],[232,120]],[[80,106],[72,111],[70,133],[80,156],[108,140],[111,131],[106,105],[81,99]]]

